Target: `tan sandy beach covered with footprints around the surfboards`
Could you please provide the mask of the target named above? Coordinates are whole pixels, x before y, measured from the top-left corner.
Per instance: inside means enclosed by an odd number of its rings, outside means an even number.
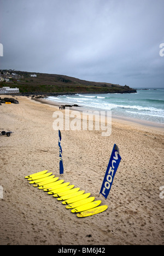
[[[14,132],[0,137],[0,245],[164,245],[162,128],[113,119],[108,137],[95,130],[61,131],[59,177],[58,131],[52,128],[58,107],[17,100],[0,106],[0,131]],[[105,200],[98,195],[114,143],[122,160]],[[107,211],[77,218],[24,178],[43,170],[102,200]]]

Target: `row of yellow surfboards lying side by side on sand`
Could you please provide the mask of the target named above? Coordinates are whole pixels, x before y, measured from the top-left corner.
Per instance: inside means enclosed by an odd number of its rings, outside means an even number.
[[[95,201],[95,197],[85,190],[74,188],[69,182],[58,179],[48,170],[30,174],[25,177],[33,187],[53,195],[58,201],[66,205],[66,209],[71,209],[72,213],[77,213],[77,217],[83,218],[106,211],[108,206],[101,205],[101,200]]]

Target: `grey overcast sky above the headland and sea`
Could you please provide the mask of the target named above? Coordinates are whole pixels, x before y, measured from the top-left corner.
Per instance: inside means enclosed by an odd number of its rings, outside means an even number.
[[[164,0],[0,0],[0,69],[164,88],[163,25]]]

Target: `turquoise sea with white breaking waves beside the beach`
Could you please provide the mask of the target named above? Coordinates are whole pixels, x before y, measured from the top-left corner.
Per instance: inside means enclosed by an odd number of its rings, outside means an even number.
[[[78,104],[85,110],[111,110],[112,117],[154,122],[164,127],[164,88],[136,89],[134,94],[74,94],[47,100]]]

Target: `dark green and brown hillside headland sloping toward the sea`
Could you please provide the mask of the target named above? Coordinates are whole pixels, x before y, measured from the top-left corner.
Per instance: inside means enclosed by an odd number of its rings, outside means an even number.
[[[14,73],[13,73],[14,72]],[[3,74],[2,74],[3,73]],[[37,77],[31,77],[36,74]],[[1,71],[0,87],[10,86],[19,88],[21,93],[33,94],[61,94],[61,93],[133,93],[135,89],[110,83],[97,83],[80,80],[66,75],[31,73],[24,71]],[[7,79],[9,77],[9,79]]]

